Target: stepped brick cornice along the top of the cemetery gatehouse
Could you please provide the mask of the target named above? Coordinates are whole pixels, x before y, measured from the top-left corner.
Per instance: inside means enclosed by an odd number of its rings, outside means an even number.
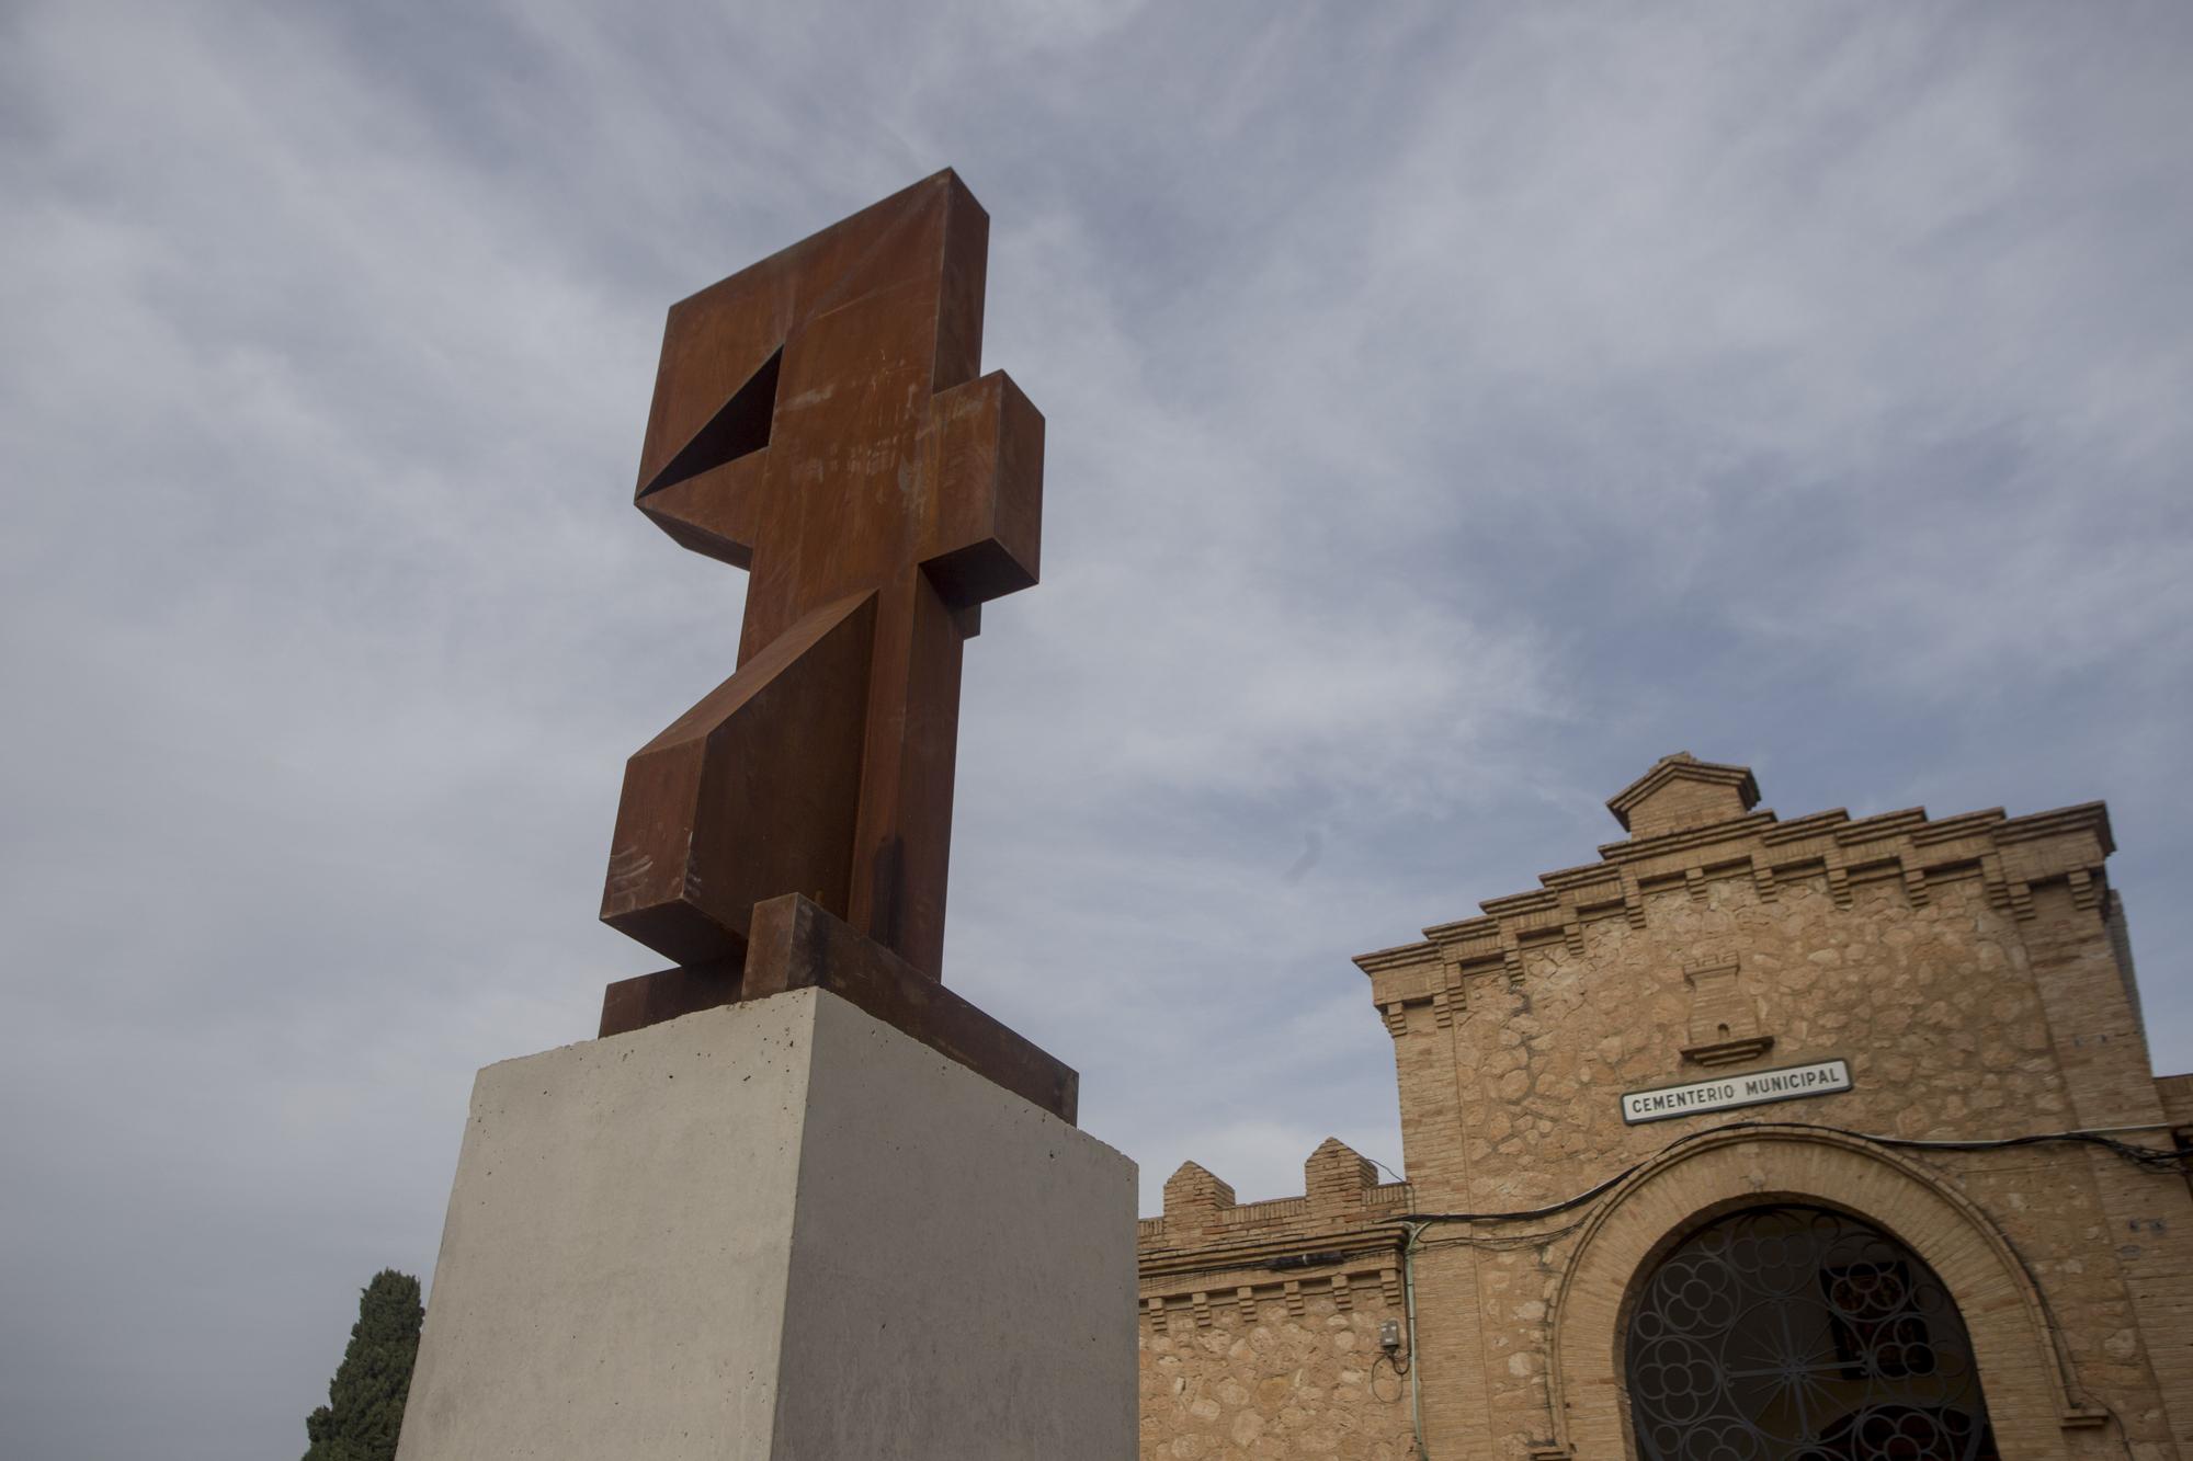
[[[2081,803],[2007,816],[2002,807],[1930,820],[1923,807],[1851,818],[1844,809],[1781,820],[1759,807],[1759,781],[1748,766],[1700,761],[1686,750],[1607,801],[1629,836],[1599,849],[1599,862],[1539,875],[1539,888],[1478,904],[1482,917],[1434,924],[1423,941],[1355,956],[1371,976],[1373,1003],[1399,1035],[1406,1007],[1430,1003],[1445,1024],[1461,1007],[1467,978],[1524,978],[1522,954],[1566,943],[1583,956],[1586,928],[1621,919],[1645,928],[1656,895],[1682,893],[1708,902],[1715,884],[1748,884],[1774,902],[1792,884],[1814,884],[1851,908],[1855,888],[1888,882],[1912,904],[1928,888],[1980,880],[1987,899],[2033,917],[2033,888],[2064,882],[2081,908],[2103,908],[2105,858],[2116,851],[2103,803]]]

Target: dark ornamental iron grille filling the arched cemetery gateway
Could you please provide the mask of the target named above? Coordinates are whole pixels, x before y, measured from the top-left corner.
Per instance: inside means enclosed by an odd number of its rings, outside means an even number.
[[[1827,1209],[1684,1237],[1636,1294],[1627,1362],[1640,1461],[2000,1461],[1941,1279]]]

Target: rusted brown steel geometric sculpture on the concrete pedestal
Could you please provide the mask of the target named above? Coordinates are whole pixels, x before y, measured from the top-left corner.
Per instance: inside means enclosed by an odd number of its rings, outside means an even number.
[[[680,967],[605,1035],[844,985],[1070,1119],[1072,1073],[939,985],[961,645],[1042,531],[1044,419],[976,375],[987,254],[943,171],[671,305],[636,502],[752,579],[737,673],[625,768],[601,917]]]

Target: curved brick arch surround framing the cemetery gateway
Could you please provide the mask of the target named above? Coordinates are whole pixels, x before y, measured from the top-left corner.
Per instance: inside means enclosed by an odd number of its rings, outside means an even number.
[[[1548,1338],[1557,1454],[1636,1457],[1621,1360],[1636,1275],[1697,1224],[1770,1202],[1844,1211],[1925,1259],[1965,1316],[2004,1461],[2064,1461],[2064,1428],[2101,1419],[2072,1402],[2039,1292],[1978,1207],[1851,1136],[1722,1132],[1654,1158],[1583,1224]]]

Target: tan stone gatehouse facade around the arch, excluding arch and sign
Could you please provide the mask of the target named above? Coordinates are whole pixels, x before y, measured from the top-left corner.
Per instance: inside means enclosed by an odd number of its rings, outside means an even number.
[[[1660,805],[1632,807],[1654,836],[1605,864],[1360,961],[1395,1035],[1419,1211],[1550,1204],[1739,1121],[1936,1141],[2164,1121],[2099,807],[1776,823],[1730,801],[1741,768],[1708,770],[1717,785],[1678,768]],[[1724,820],[1684,820],[1715,796]],[[1621,1119],[1625,1090],[1825,1057],[1851,1064],[1851,1092]],[[2186,1182],[2066,1145],[1899,1156],[1985,1211],[2042,1292],[2070,1380],[2046,1454],[2193,1457],[2193,1400],[2171,1408],[2193,1397]],[[1548,1325],[1583,1215],[1441,1228],[1421,1255],[1432,1454],[1570,1454]]]

